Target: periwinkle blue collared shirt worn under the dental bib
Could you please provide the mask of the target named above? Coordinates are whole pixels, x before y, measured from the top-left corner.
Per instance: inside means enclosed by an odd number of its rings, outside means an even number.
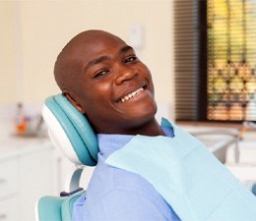
[[[166,136],[172,137],[172,130],[162,129]],[[144,178],[105,164],[107,156],[122,148],[133,136],[98,135],[97,138],[96,169],[87,193],[74,204],[73,221],[180,220]]]

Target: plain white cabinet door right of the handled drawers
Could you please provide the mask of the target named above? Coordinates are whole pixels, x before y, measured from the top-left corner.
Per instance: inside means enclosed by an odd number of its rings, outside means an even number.
[[[23,154],[19,162],[19,211],[22,221],[34,220],[34,206],[41,195],[55,193],[54,151],[41,148]]]

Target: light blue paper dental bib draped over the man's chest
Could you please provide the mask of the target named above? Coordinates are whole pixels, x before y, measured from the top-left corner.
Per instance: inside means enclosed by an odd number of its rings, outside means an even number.
[[[203,143],[173,129],[174,138],[136,136],[106,163],[145,178],[182,221],[255,221],[256,197]]]

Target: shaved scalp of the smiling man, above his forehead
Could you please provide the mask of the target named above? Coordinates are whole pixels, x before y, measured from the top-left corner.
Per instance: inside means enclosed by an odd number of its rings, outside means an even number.
[[[85,57],[93,53],[102,41],[123,41],[119,37],[103,30],[86,30],[73,37],[62,49],[54,67],[55,81],[62,92],[76,93],[87,63]]]

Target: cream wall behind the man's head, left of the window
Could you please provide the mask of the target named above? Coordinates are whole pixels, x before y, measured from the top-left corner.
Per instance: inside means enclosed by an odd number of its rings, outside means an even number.
[[[99,28],[129,42],[129,28],[137,25],[145,30],[139,54],[156,98],[173,107],[172,0],[0,1],[0,104],[42,102],[59,92],[55,58],[78,32]]]

